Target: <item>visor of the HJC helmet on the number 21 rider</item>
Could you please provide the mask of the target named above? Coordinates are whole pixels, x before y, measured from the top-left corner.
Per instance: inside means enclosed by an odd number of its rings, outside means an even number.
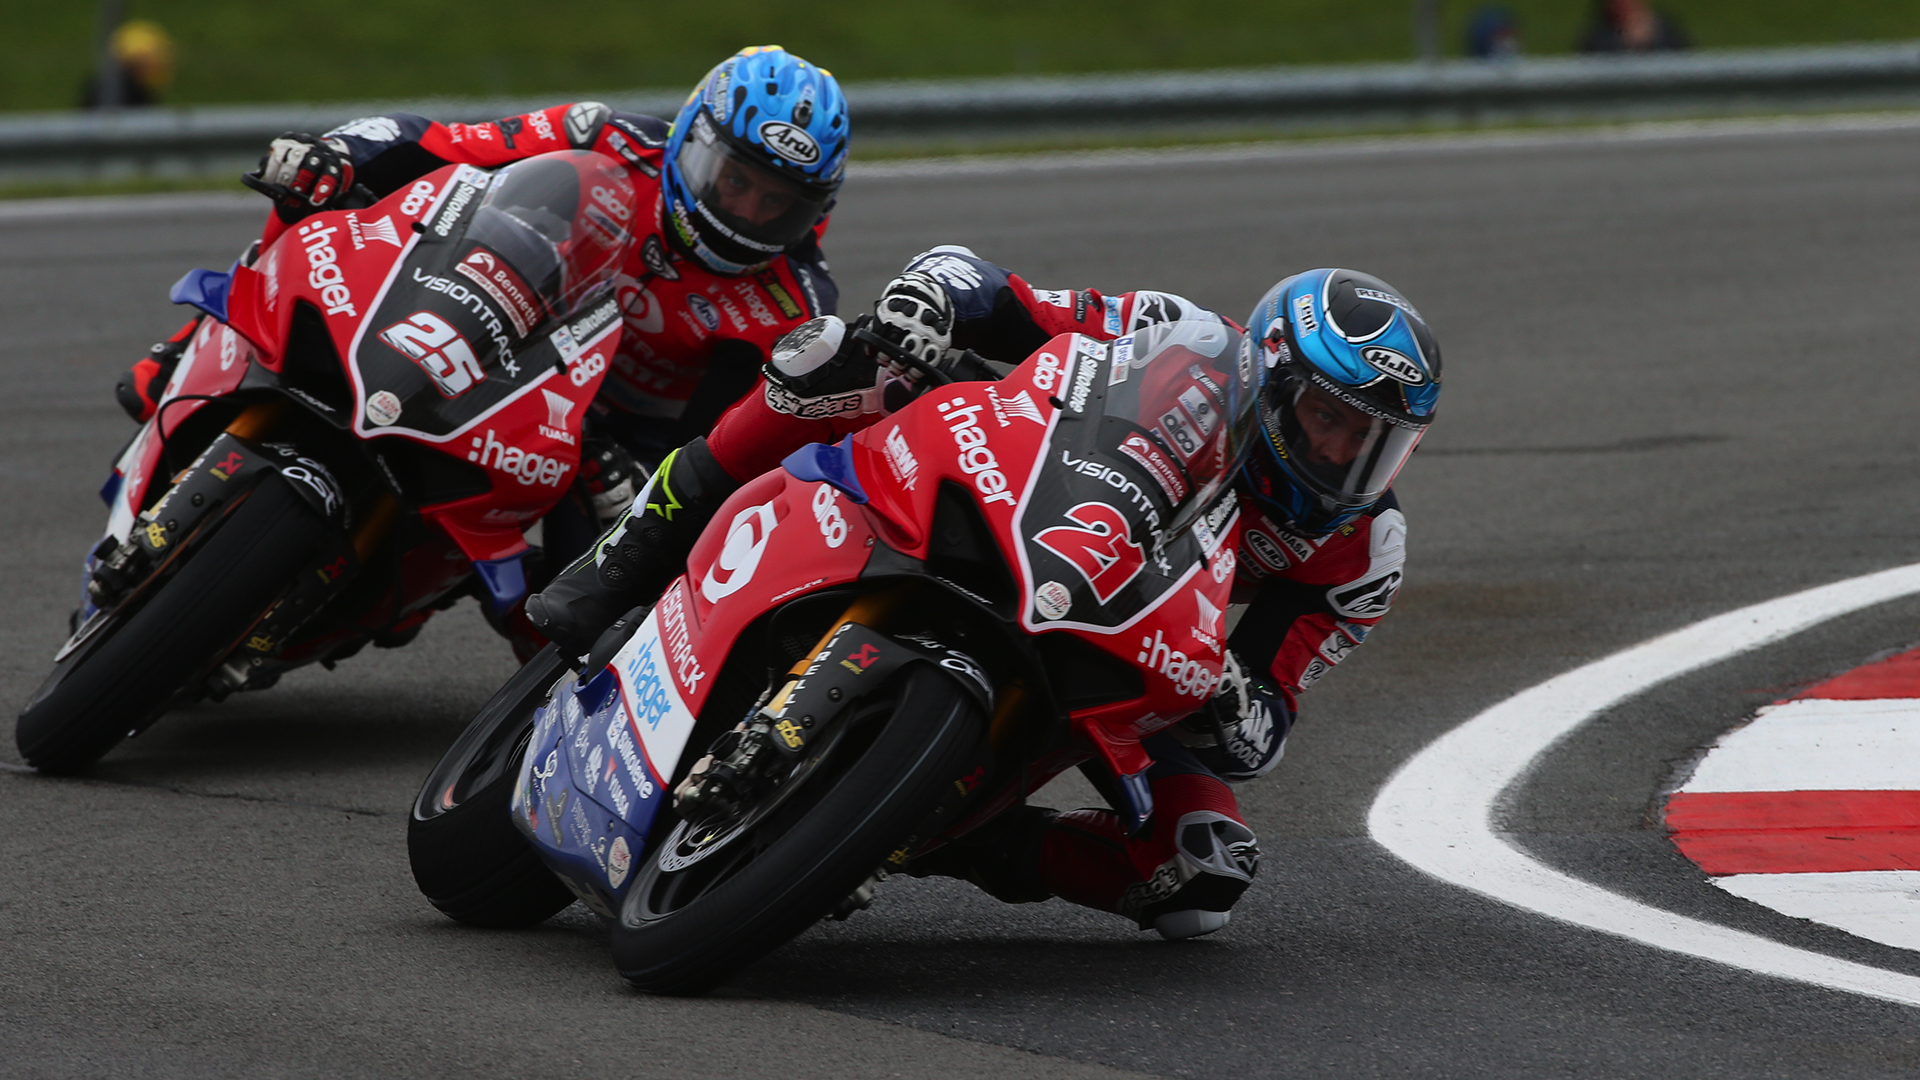
[[[1275,371],[1267,394],[1275,452],[1329,509],[1379,502],[1427,432],[1359,409],[1298,371]]]

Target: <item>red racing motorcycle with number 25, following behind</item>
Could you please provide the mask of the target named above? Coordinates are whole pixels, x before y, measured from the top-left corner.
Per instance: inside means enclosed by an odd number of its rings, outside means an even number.
[[[173,286],[204,317],[100,492],[73,636],[15,728],[36,769],[526,594],[522,530],[572,482],[618,346],[634,188],[559,152],[357,202]]]

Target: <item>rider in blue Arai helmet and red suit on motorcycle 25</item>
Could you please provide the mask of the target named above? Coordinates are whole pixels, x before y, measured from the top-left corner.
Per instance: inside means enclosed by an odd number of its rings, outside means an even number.
[[[643,477],[628,450],[657,457],[705,432],[755,386],[774,340],[835,309],[820,236],[847,171],[847,131],[831,73],[755,46],[708,71],[672,123],[599,102],[470,125],[376,115],[275,138],[257,177],[284,188],[276,211],[292,223],[355,186],[382,198],[449,163],[495,167],[553,150],[626,163],[637,204],[653,209],[616,281],[626,327],[580,467],[595,521],[578,530],[572,557],[632,502]],[[154,415],[196,325],[156,344],[115,388],[134,419]]]

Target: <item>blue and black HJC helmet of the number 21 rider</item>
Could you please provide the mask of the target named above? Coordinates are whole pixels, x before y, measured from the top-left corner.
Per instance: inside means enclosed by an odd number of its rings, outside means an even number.
[[[1427,432],[1440,344],[1400,290],[1346,269],[1275,284],[1246,329],[1267,367],[1248,494],[1325,536],[1386,494]]]

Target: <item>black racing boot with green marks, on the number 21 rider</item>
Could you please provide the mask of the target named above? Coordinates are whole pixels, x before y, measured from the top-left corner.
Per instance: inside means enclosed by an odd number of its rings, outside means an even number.
[[[528,621],[561,650],[586,655],[614,619],[651,603],[685,569],[693,542],[737,488],[705,438],[668,454],[612,528],[526,600]]]

